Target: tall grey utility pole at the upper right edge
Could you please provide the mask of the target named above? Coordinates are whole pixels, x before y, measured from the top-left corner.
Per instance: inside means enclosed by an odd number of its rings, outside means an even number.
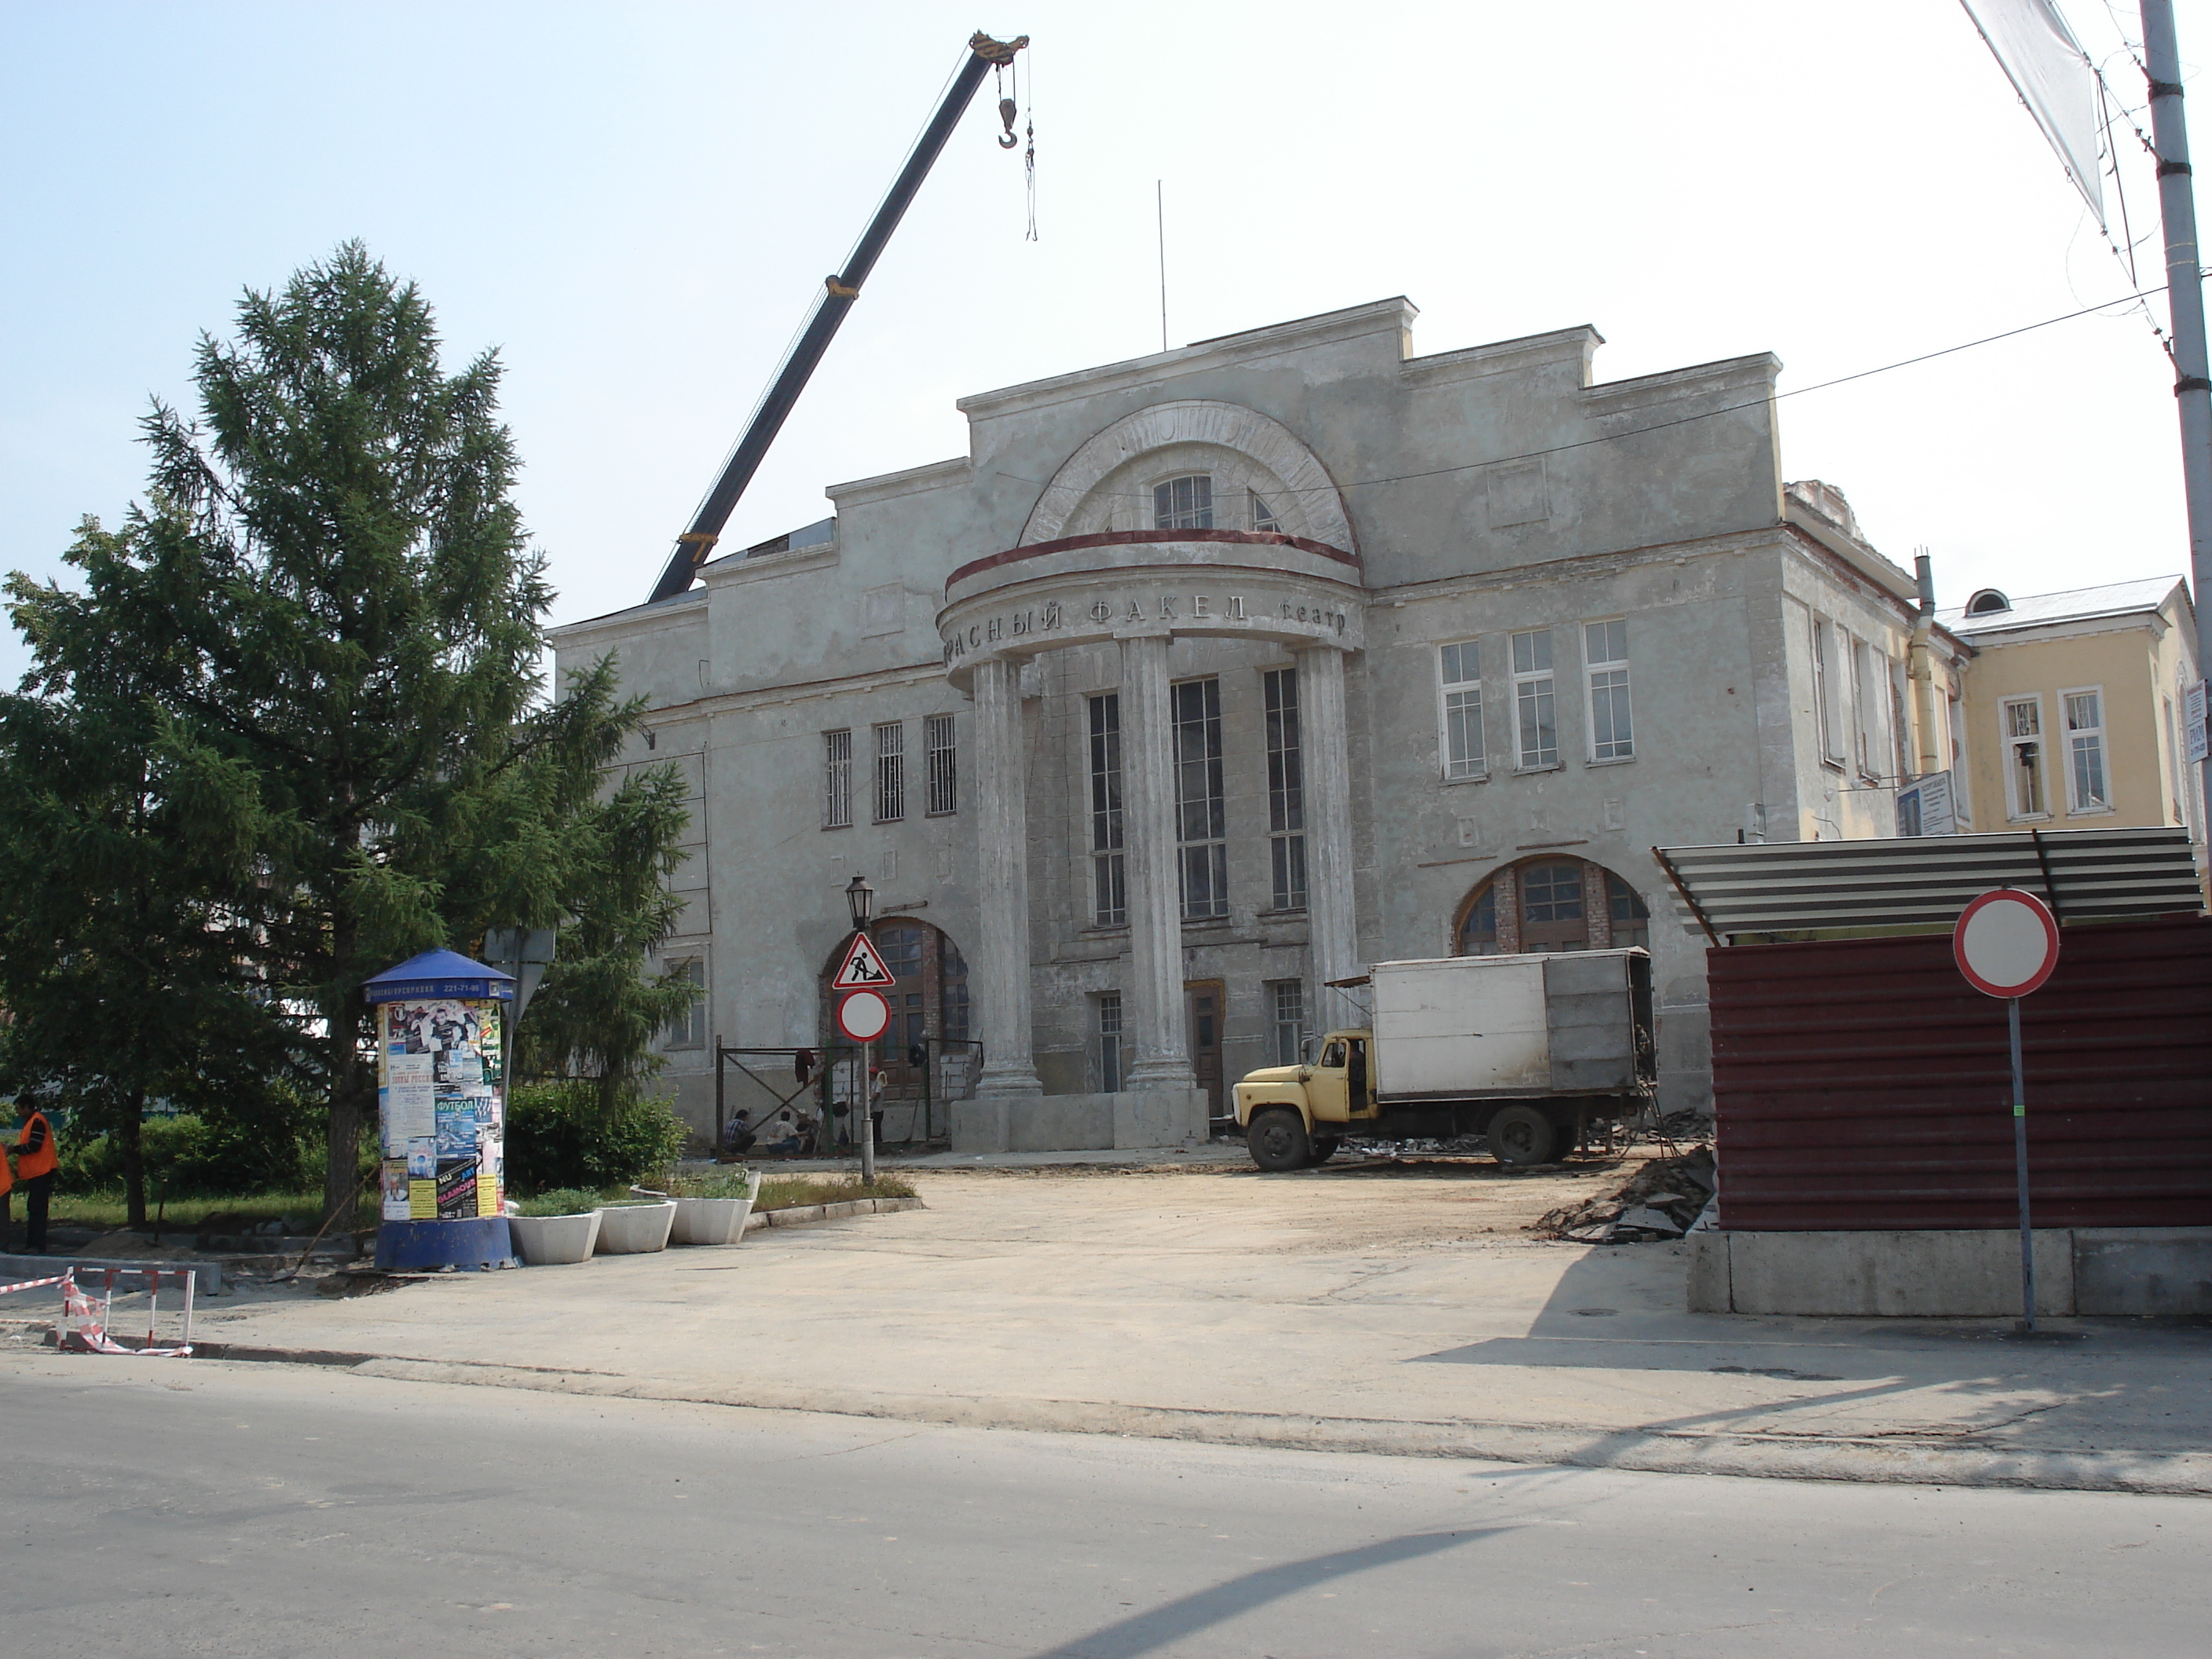
[[[2190,509],[2190,591],[2197,597],[2197,675],[2212,672],[2212,369],[2205,361],[2205,296],[2199,276],[2197,190],[2181,113],[2181,49],[2172,0],[2143,0],[2143,69],[2150,77],[2150,139],[2159,153],[2159,219],[2166,226],[2166,307],[2174,336],[2174,403],[2181,409],[2181,487]],[[2212,834],[2212,763],[2197,765],[2199,818]]]

